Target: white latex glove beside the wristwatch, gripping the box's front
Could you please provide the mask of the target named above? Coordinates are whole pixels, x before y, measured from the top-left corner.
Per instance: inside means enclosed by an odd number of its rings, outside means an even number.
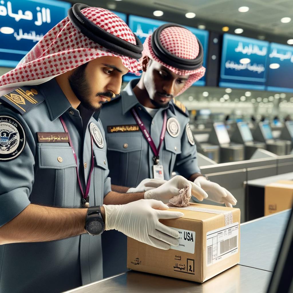
[[[158,200],[137,200],[126,205],[103,205],[105,208],[105,230],[115,229],[140,242],[161,249],[170,244],[178,246],[179,233],[159,219],[176,219],[181,212],[166,211],[169,207]]]

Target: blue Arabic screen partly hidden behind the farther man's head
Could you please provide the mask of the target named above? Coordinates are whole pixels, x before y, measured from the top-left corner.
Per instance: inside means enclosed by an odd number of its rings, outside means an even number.
[[[145,18],[140,16],[129,16],[129,27],[133,31],[134,34],[136,34],[143,43],[144,40],[151,35],[156,28],[158,28],[160,25],[163,25],[167,23],[166,21],[160,21],[156,19],[151,18]],[[207,30],[199,30],[197,28],[192,28],[189,26],[184,26],[188,30],[190,30],[193,34],[197,36],[197,38],[202,43],[202,47],[204,50],[204,62],[203,66],[206,67],[207,63],[207,45],[208,45],[208,38],[209,38],[209,32]],[[127,74],[123,80],[124,81],[130,81],[131,79],[136,78],[134,74]],[[194,83],[196,86],[204,86],[205,85],[205,76],[203,76],[200,80]]]

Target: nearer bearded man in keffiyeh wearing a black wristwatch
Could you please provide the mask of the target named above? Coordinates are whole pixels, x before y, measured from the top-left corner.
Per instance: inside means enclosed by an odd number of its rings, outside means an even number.
[[[178,245],[178,232],[159,219],[183,214],[164,203],[187,185],[188,197],[203,194],[197,185],[177,176],[123,194],[108,177],[98,113],[123,74],[138,74],[142,49],[114,13],[75,4],[0,77],[1,292],[63,292],[100,280],[104,229],[161,249]]]

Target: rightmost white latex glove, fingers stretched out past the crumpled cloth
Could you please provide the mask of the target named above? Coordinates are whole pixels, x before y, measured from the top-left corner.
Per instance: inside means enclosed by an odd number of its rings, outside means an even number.
[[[226,188],[217,183],[206,180],[205,177],[199,176],[194,180],[194,183],[199,183],[200,187],[209,195],[207,200],[213,202],[224,203],[226,207],[236,205],[236,198]]]

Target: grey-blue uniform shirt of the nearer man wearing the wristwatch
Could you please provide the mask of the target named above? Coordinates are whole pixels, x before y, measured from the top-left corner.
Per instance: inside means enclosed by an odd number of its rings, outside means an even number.
[[[111,182],[107,146],[98,114],[96,120],[90,113],[87,125],[83,125],[81,114],[86,110],[72,108],[54,79],[21,89],[23,97],[17,91],[8,95],[14,107],[6,103],[9,102],[7,96],[1,98],[0,116],[17,120],[25,131],[27,142],[15,159],[0,162],[0,226],[16,217],[30,203],[64,208],[82,206],[76,162],[69,143],[39,142],[37,138],[37,132],[64,132],[60,115],[64,118],[77,154],[83,188],[91,168],[88,124],[94,122],[102,133],[103,148],[93,143],[95,166],[89,191],[90,206],[101,205],[111,190]],[[37,103],[31,104],[30,98]],[[20,115],[20,107],[29,110]],[[58,157],[62,158],[62,162]],[[86,168],[84,163],[87,163]],[[1,293],[63,292],[102,277],[100,236],[83,234],[57,241],[0,246]]]

